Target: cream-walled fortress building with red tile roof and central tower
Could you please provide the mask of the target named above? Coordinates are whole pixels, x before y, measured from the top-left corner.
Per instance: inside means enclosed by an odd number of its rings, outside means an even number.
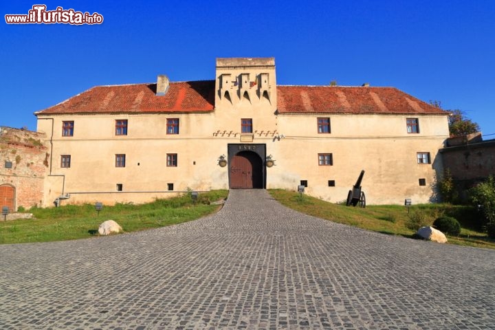
[[[214,80],[98,86],[36,112],[44,201],[151,201],[285,188],[372,204],[434,200],[448,113],[393,87],[276,85],[274,58],[217,58]]]

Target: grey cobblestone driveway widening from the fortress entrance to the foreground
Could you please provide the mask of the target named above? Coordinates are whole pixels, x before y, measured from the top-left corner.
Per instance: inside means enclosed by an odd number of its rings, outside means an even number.
[[[173,227],[0,245],[0,329],[495,329],[495,251],[233,190]]]

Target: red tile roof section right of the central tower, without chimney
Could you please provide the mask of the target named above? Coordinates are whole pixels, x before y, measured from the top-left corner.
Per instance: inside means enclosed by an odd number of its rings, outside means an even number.
[[[393,87],[278,86],[278,113],[447,114]]]

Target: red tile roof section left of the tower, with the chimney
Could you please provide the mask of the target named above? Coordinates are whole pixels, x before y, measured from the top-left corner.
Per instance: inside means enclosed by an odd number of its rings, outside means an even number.
[[[164,96],[156,84],[98,86],[37,114],[205,112],[214,106],[214,80],[170,83]]]

